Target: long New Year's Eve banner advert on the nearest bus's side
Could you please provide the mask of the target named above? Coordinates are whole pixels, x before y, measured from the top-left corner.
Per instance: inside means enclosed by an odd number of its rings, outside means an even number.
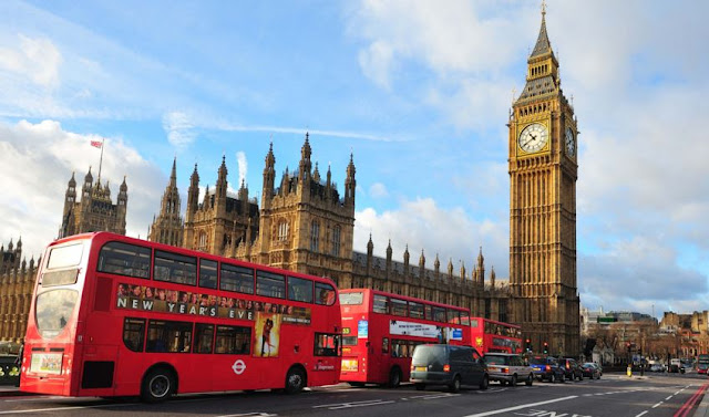
[[[279,324],[310,325],[309,307],[124,283],[116,293],[117,309],[249,321],[263,312],[277,315]]]

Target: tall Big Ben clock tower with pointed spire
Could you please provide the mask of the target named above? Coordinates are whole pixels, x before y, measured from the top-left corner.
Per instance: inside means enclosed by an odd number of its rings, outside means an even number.
[[[546,10],[510,115],[510,286],[535,352],[579,353],[577,124],[561,87]]]

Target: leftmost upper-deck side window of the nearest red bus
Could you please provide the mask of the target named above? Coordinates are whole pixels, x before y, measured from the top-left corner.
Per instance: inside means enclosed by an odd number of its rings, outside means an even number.
[[[99,272],[150,278],[151,250],[135,244],[109,242],[99,254]]]

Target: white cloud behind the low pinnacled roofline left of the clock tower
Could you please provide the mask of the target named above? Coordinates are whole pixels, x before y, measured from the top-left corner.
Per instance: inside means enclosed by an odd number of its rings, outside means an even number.
[[[482,247],[486,278],[490,278],[492,267],[501,279],[508,275],[506,225],[489,220],[474,221],[460,207],[444,209],[430,198],[419,198],[403,200],[397,210],[381,213],[368,207],[357,211],[354,218],[356,251],[367,252],[367,242],[372,233],[374,253],[379,257],[387,256],[387,244],[391,240],[392,256],[397,260],[403,259],[403,251],[408,246],[411,262],[418,264],[418,254],[423,249],[427,268],[433,269],[438,253],[442,265],[453,260],[458,273],[459,262],[462,261],[470,273]]]

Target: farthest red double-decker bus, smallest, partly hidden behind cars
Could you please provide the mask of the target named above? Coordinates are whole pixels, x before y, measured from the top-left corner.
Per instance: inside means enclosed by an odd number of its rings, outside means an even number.
[[[473,347],[487,352],[522,353],[522,327],[484,317],[470,319]]]

